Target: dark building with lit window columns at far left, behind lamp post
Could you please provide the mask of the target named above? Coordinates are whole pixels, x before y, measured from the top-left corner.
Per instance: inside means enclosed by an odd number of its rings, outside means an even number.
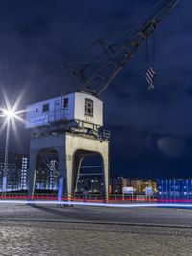
[[[0,152],[0,190],[3,184],[4,152]],[[29,156],[25,154],[9,153],[7,190],[28,189]]]

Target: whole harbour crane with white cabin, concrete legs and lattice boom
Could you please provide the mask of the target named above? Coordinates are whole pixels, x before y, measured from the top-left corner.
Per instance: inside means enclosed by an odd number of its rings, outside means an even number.
[[[26,128],[31,129],[29,195],[33,198],[38,157],[59,177],[58,200],[63,191],[68,200],[83,158],[99,154],[103,163],[104,191],[108,202],[109,137],[103,127],[103,102],[98,98],[134,53],[156,30],[178,0],[156,2],[156,13],[139,21],[137,28],[124,26],[117,33],[98,41],[101,53],[81,68],[67,64],[76,83],[73,93],[28,105]],[[77,91],[78,90],[78,91]],[[50,158],[49,158],[50,157]],[[63,189],[64,188],[64,189]]]

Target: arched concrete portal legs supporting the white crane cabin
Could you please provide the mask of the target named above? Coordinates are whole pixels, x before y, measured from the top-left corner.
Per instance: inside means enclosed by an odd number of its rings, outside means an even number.
[[[109,186],[109,141],[87,138],[84,135],[64,133],[31,138],[29,194],[34,196],[38,152],[42,149],[54,149],[59,157],[58,200],[65,195],[71,201],[81,161],[87,154],[100,154],[103,162],[104,195],[108,202]]]

